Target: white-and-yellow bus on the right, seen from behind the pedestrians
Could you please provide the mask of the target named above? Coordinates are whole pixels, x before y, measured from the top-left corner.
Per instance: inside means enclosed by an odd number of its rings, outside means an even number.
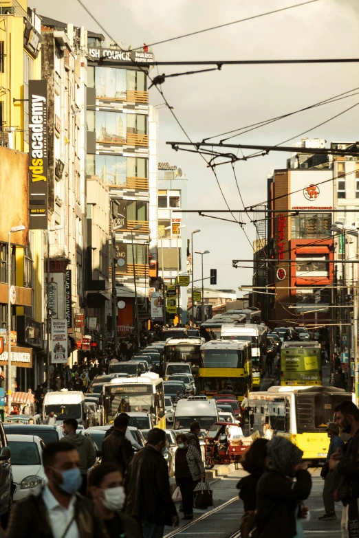
[[[268,423],[274,435],[286,437],[303,450],[303,458],[323,461],[329,449],[327,424],[335,420],[336,406],[354,400],[355,394],[334,387],[270,387],[249,394],[243,406],[243,428],[252,434]]]

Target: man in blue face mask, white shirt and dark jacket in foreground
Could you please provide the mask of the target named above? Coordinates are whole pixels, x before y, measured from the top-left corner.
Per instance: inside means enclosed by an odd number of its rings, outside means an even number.
[[[94,504],[76,493],[81,484],[78,451],[65,442],[43,450],[47,484],[14,504],[6,538],[108,538]]]

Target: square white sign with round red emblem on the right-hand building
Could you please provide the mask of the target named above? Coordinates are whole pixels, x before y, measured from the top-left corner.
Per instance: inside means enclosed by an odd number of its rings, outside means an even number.
[[[329,179],[333,170],[290,170],[290,209],[332,210],[334,190]]]

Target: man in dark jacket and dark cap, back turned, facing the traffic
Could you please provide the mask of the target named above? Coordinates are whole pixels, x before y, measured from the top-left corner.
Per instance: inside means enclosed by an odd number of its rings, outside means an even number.
[[[127,416],[116,416],[111,434],[102,442],[102,463],[117,465],[122,473],[126,471],[129,460],[133,456],[131,442],[126,438],[128,425]]]

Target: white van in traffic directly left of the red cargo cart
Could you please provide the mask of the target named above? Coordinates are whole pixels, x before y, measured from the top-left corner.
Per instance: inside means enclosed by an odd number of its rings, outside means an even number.
[[[219,421],[217,403],[207,396],[188,396],[179,400],[175,409],[174,429],[189,429],[193,422],[199,422],[202,429],[210,427]]]

